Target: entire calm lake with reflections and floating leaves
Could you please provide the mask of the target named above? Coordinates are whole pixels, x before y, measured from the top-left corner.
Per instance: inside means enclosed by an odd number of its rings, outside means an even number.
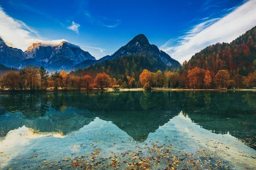
[[[255,91],[0,95],[0,169],[255,168]]]

